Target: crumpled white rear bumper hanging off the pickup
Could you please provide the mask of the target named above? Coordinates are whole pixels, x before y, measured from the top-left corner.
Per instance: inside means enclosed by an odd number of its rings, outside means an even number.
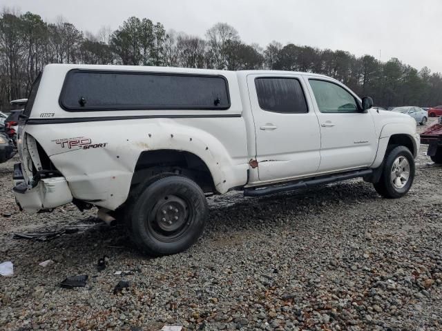
[[[15,187],[12,189],[19,207],[30,214],[66,205],[73,200],[68,182],[64,177],[41,179],[31,187],[25,181],[18,181],[21,170],[14,169]]]

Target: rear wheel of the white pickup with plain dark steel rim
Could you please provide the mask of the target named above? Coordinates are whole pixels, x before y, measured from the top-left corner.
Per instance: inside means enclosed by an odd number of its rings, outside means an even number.
[[[162,177],[134,194],[126,215],[129,236],[145,254],[176,254],[198,240],[207,210],[197,183],[182,176]]]

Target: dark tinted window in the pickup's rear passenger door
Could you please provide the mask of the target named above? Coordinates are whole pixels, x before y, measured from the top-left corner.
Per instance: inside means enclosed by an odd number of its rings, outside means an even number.
[[[262,110],[286,113],[308,112],[304,92],[296,78],[257,78],[255,86]]]

